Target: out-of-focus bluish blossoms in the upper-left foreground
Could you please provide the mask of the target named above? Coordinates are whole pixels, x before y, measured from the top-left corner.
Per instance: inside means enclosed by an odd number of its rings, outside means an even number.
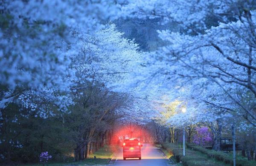
[[[14,97],[29,96],[52,101],[58,109],[70,105],[66,103],[70,98],[60,94],[69,92],[76,82],[70,65],[80,41],[104,27],[102,23],[114,16],[118,6],[110,1],[34,0],[1,1],[0,5],[1,106]],[[23,102],[28,106],[31,101]]]

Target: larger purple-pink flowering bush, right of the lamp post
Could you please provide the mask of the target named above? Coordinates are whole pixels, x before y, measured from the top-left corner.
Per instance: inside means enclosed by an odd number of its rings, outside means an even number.
[[[193,143],[206,146],[208,143],[212,142],[211,133],[208,127],[198,127],[196,129],[196,134],[193,136]]]

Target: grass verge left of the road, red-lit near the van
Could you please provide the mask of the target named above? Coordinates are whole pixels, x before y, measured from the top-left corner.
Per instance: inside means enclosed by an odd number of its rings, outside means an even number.
[[[110,159],[113,157],[114,151],[118,149],[119,146],[104,146],[98,151],[94,152],[89,156],[89,158],[77,162],[54,162],[49,161],[45,166],[87,166],[87,165],[105,165],[108,164]],[[96,159],[94,159],[96,156]],[[20,166],[43,166],[41,163],[35,164],[22,164]]]

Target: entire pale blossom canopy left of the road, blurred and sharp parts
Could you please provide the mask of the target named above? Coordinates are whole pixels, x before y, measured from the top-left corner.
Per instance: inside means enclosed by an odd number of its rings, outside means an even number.
[[[120,10],[114,0],[1,1],[0,10],[0,109],[20,102],[43,118],[68,113],[77,88],[118,86],[140,59],[109,24]]]

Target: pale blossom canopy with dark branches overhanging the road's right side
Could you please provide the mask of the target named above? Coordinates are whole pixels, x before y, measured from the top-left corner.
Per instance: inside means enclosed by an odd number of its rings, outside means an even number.
[[[253,6],[253,1],[232,0],[139,1],[124,6],[127,17],[157,17],[163,19],[160,23],[180,25],[180,32],[159,31],[167,44],[145,56],[145,67],[136,73],[138,78],[147,84],[162,84],[160,88],[185,88],[197,111],[214,107],[219,113],[243,116],[255,126]]]

